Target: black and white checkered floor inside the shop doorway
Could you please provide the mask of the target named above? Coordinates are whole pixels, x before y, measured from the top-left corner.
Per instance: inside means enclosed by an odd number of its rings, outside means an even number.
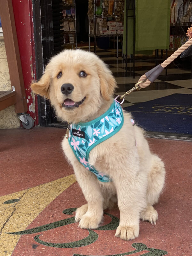
[[[151,61],[150,59],[144,62],[142,60],[136,62],[135,78],[133,78],[132,63],[128,63],[128,72],[127,76],[125,76],[125,61],[121,57],[121,52],[119,53],[119,57],[116,58],[116,50],[102,50],[97,48],[96,54],[108,64],[116,78],[118,88],[116,89],[115,95],[122,95],[130,90],[138,82],[140,76],[156,66],[155,61]],[[159,63],[162,62],[163,60]],[[122,106],[128,107],[136,103],[154,100],[173,93],[192,94],[191,78],[191,67],[184,70],[170,64],[167,69],[167,76],[165,76],[164,70],[158,79],[147,88],[141,89],[138,92],[132,92],[127,96]]]

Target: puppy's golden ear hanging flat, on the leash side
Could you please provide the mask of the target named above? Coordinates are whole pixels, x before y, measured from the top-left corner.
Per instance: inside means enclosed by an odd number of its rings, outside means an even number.
[[[103,62],[98,66],[98,75],[100,78],[100,92],[105,100],[110,100],[117,87],[116,80]]]

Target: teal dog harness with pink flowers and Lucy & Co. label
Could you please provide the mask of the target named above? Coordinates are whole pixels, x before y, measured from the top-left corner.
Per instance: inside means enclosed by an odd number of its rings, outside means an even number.
[[[123,123],[123,110],[121,105],[114,100],[102,116],[87,123],[70,125],[68,142],[76,158],[102,182],[108,182],[110,178],[89,164],[89,153],[95,146],[116,134]]]

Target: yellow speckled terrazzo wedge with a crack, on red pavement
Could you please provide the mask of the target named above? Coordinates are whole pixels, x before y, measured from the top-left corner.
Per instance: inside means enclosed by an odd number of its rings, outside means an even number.
[[[74,174],[59,180],[0,197],[0,256],[11,256],[20,235],[5,234],[25,230],[57,196],[75,182]],[[10,199],[20,199],[4,204]]]

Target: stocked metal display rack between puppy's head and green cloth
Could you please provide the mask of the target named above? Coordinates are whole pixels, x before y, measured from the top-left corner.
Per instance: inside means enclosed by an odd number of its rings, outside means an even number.
[[[90,1],[91,2],[91,1]],[[90,2],[89,2],[89,8],[90,8]],[[99,37],[113,37],[114,42],[116,39],[116,50],[117,50],[117,58],[118,58],[118,42],[119,40],[123,41],[123,21],[116,21],[117,15],[114,13],[114,10],[112,11],[112,14],[104,15],[104,8],[102,6],[102,14],[97,15],[96,14],[96,2],[97,0],[92,1],[93,5],[93,13],[92,17],[89,15],[89,51],[91,50],[91,37],[94,38],[94,53],[96,53],[96,38]],[[102,1],[100,1],[102,2]],[[109,1],[107,1],[109,2]],[[117,2],[124,3],[124,1],[118,1],[114,0],[114,5],[117,4]],[[109,8],[109,7],[108,7]],[[122,8],[122,12],[124,10],[124,6]],[[123,19],[123,15],[121,15],[121,19]],[[104,26],[100,26],[99,24],[103,21],[106,21],[106,28]],[[108,29],[108,28],[114,28],[114,29]],[[100,28],[100,29],[98,29]],[[119,33],[117,33],[119,31]],[[123,44],[122,44],[123,46]],[[123,51],[122,51],[123,52]]]

